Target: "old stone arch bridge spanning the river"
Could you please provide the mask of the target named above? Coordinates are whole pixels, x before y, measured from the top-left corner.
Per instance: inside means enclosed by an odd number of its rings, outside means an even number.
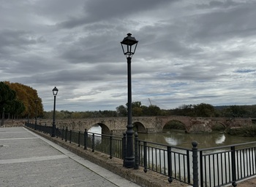
[[[242,127],[252,124],[249,118],[201,118],[189,116],[143,116],[132,117],[132,124],[138,132],[162,132],[168,122],[178,121],[184,124],[186,132],[211,132],[216,125],[227,127]],[[38,120],[38,124],[50,125],[52,120]],[[98,124],[102,127],[102,134],[122,135],[127,130],[127,117],[86,118],[86,119],[56,119],[56,127],[83,132]]]

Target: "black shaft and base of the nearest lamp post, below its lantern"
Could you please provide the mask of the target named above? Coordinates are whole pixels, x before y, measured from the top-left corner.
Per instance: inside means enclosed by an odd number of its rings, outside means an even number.
[[[124,167],[134,167],[135,155],[133,151],[133,125],[132,125],[132,58],[127,57],[127,77],[128,77],[128,121],[127,121],[127,154],[124,159]]]

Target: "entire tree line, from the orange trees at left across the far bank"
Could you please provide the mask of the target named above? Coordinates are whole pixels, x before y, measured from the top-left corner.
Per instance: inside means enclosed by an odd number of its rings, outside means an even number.
[[[53,111],[44,111],[42,99],[32,87],[0,82],[0,114],[5,118],[52,119]],[[36,112],[37,109],[37,112]],[[8,116],[8,117],[7,117]],[[127,104],[116,107],[116,111],[56,111],[57,119],[81,119],[91,117],[127,116]],[[158,106],[143,106],[140,101],[132,102],[132,116],[194,116],[194,117],[252,117],[256,118],[256,105],[252,106],[212,106],[207,103],[181,105],[174,109],[161,109]]]

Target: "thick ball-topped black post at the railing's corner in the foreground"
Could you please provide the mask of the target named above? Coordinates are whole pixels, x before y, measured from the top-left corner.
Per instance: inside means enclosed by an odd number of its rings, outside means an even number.
[[[192,163],[193,163],[193,187],[198,187],[198,153],[197,142],[192,142]]]

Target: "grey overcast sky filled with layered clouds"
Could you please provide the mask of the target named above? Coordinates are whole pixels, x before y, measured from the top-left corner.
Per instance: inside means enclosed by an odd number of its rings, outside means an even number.
[[[0,77],[37,89],[45,111],[256,103],[255,0],[0,0]]]

